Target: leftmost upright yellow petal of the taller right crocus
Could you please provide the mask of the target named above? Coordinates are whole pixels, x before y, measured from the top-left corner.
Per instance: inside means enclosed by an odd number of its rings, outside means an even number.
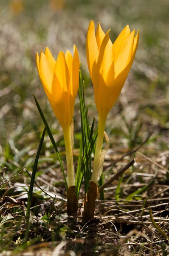
[[[91,20],[88,31],[87,31],[87,38],[86,38],[86,56],[87,56],[87,65],[88,65],[90,76],[92,74],[93,63],[98,58],[98,55],[99,55],[99,50],[96,42],[95,28],[94,28],[93,20]]]

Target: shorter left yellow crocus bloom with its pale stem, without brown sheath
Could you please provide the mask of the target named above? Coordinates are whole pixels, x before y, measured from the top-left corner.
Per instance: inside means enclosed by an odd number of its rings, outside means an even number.
[[[65,54],[61,51],[55,61],[47,47],[45,53],[41,51],[40,56],[37,53],[36,62],[45,93],[63,129],[69,188],[75,186],[70,123],[79,88],[79,54],[74,45],[73,57],[70,51]]]

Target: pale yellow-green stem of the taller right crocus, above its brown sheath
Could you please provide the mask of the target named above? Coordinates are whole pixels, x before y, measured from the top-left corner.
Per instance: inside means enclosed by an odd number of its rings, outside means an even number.
[[[103,145],[103,138],[104,138],[104,128],[106,124],[106,118],[99,116],[99,127],[98,127],[98,134],[97,134],[97,141],[96,141],[96,151],[93,163],[93,173],[91,177],[91,181],[95,182],[96,185],[98,183],[98,175],[99,175],[99,162],[101,156],[101,149]]]

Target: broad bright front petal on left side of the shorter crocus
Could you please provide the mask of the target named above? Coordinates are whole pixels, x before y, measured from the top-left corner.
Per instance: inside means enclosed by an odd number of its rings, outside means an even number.
[[[39,70],[40,78],[45,86],[45,91],[48,90],[49,93],[51,93],[53,70],[51,69],[51,65],[43,52],[40,53]]]

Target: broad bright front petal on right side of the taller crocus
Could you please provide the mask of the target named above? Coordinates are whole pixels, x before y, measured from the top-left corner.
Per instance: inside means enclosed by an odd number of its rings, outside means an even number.
[[[134,43],[135,30],[131,32],[125,41],[121,51],[118,54],[118,58],[115,59],[115,78],[127,67],[132,58],[132,50]]]

